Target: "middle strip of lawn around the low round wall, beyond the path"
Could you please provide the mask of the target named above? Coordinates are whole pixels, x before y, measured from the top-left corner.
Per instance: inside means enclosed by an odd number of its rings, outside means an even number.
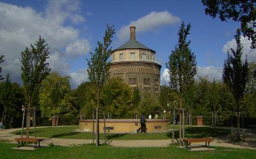
[[[37,128],[36,136],[39,137],[54,137],[54,138],[65,138],[65,139],[92,139],[91,132],[76,132],[78,126],[71,127],[47,127],[47,128]],[[211,127],[186,127],[185,137],[217,137],[221,135],[228,135],[229,130],[221,128],[211,128]],[[19,135],[20,131],[14,132],[15,135]],[[30,130],[30,135],[34,135],[34,129]],[[179,132],[175,132],[175,137],[177,138]],[[156,139],[171,139],[171,132],[155,132],[155,133],[107,133],[108,139],[112,140],[156,140]],[[104,139],[104,134],[100,134],[100,139]]]

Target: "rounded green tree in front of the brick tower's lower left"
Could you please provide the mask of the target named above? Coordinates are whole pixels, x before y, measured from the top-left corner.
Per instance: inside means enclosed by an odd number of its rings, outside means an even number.
[[[102,89],[101,101],[112,118],[132,118],[136,106],[132,104],[133,90],[121,78],[109,78]]]

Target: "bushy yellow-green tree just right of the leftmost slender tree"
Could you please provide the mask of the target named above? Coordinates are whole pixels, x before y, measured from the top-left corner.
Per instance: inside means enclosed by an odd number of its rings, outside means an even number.
[[[62,101],[69,91],[71,91],[69,77],[61,77],[56,72],[52,72],[46,76],[42,81],[39,94],[42,115],[46,116],[49,120],[51,120],[52,116],[53,118],[58,117],[63,106]]]

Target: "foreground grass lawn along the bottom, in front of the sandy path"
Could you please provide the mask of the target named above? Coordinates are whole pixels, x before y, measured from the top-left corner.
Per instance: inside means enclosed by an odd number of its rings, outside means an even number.
[[[96,147],[42,147],[38,150],[14,150],[16,144],[0,142],[0,158],[255,158],[256,150],[214,147],[207,152],[189,152],[175,146],[164,148],[118,148],[109,145]]]

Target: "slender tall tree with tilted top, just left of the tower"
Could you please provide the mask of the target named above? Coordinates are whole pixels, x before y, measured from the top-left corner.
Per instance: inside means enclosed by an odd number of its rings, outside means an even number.
[[[98,120],[98,108],[100,107],[100,93],[102,86],[106,83],[106,79],[109,74],[110,62],[108,61],[109,56],[111,55],[112,37],[114,35],[114,26],[110,27],[107,24],[105,30],[105,36],[103,37],[103,44],[98,41],[98,46],[95,48],[94,53],[90,52],[92,56],[88,62],[88,77],[90,82],[93,83],[97,90],[97,107],[96,107],[96,145],[100,144],[100,132],[99,132],[99,120]]]

